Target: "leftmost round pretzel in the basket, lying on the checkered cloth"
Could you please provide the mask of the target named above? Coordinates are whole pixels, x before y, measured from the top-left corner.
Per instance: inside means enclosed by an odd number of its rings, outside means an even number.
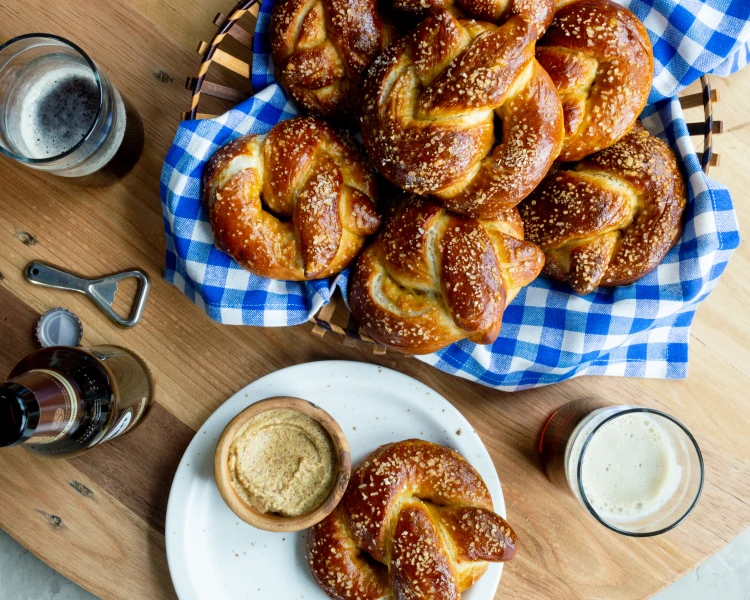
[[[380,225],[366,158],[318,119],[290,119],[229,142],[203,177],[216,246],[263,277],[338,273]]]

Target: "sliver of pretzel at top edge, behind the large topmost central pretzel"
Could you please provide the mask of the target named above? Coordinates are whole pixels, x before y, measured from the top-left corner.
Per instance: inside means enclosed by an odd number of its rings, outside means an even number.
[[[393,0],[391,4],[398,11],[414,15],[447,8],[456,15],[493,23],[521,15],[536,25],[537,37],[549,27],[555,13],[555,0]]]

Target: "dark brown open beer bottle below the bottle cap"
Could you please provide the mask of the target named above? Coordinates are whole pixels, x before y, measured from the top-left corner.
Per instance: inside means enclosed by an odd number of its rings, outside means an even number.
[[[0,383],[0,448],[73,456],[135,427],[152,395],[148,368],[124,348],[38,350]]]

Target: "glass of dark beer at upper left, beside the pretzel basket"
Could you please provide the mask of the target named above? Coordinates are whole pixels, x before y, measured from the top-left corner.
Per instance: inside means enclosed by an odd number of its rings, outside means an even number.
[[[74,43],[33,33],[0,46],[0,152],[29,167],[106,185],[143,149],[143,124]]]

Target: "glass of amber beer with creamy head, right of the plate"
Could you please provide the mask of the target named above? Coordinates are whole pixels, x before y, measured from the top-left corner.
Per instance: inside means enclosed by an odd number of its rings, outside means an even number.
[[[695,438],[674,417],[651,408],[571,402],[547,421],[539,450],[553,483],[570,489],[601,524],[625,535],[673,529],[703,489]]]

